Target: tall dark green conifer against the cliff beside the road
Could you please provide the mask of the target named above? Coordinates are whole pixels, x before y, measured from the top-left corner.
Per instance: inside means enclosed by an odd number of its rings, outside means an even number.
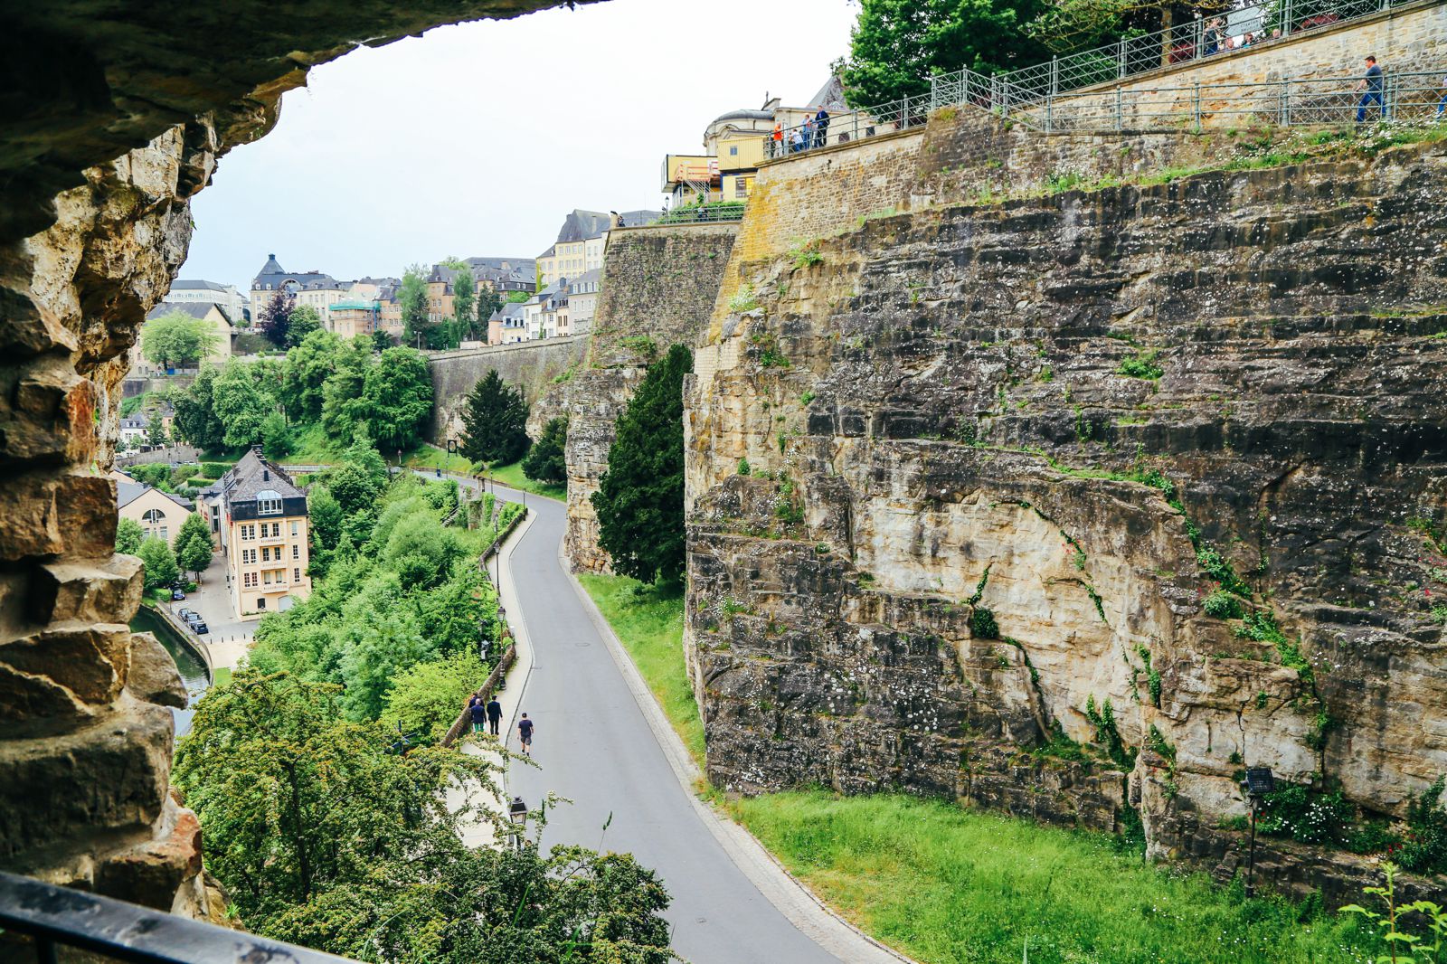
[[[692,371],[693,355],[682,344],[648,369],[618,418],[592,496],[599,546],[616,572],[642,582],[683,576],[683,376]]]

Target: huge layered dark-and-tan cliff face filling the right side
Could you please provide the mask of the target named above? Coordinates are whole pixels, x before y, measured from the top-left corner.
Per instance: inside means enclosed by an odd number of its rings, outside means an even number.
[[[696,352],[709,776],[1139,815],[1223,876],[1243,763],[1404,815],[1447,771],[1447,149],[968,206],[933,127],[933,207],[805,256],[751,207]]]

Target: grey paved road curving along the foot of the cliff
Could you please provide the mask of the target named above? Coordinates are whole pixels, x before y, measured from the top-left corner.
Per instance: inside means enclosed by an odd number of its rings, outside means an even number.
[[[528,507],[537,517],[504,579],[515,580],[532,641],[521,709],[537,721],[541,770],[514,767],[511,783],[530,806],[548,790],[574,800],[548,815],[544,845],[631,851],[657,870],[673,895],[674,950],[692,964],[838,964],[764,899],[699,819],[559,563],[564,507],[535,496]],[[517,732],[509,745],[519,748]]]

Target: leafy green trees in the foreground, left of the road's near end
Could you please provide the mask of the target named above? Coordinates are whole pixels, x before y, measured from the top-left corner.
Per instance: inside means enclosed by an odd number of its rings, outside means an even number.
[[[631,857],[464,847],[444,790],[498,764],[341,718],[336,688],[239,673],[201,701],[175,780],[247,929],[357,960],[664,964],[663,884]],[[476,799],[476,796],[475,796]],[[501,826],[499,826],[501,831]]]

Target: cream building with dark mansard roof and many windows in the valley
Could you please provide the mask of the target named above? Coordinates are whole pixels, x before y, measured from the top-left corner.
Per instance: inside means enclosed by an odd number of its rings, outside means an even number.
[[[221,476],[220,486],[220,534],[234,615],[256,620],[310,596],[307,494],[259,449]]]

